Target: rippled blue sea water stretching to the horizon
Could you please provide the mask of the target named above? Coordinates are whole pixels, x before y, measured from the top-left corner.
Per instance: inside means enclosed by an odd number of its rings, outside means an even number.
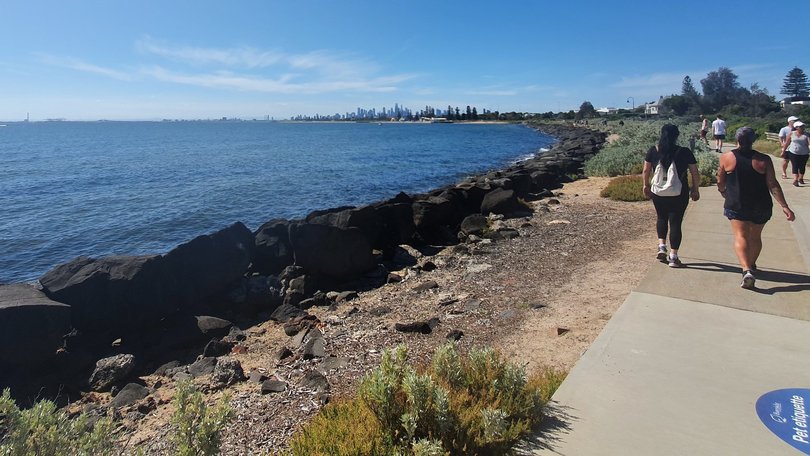
[[[0,128],[0,283],[165,253],[241,221],[425,192],[528,158],[520,125],[42,122]]]

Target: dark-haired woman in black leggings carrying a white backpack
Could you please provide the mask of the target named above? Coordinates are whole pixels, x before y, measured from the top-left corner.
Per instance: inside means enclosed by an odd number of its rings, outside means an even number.
[[[666,124],[661,127],[658,144],[651,147],[644,157],[644,196],[652,199],[657,214],[655,223],[658,232],[658,253],[656,258],[669,264],[671,268],[683,267],[678,258],[681,247],[681,224],[689,197],[700,199],[700,174],[697,160],[691,150],[678,146],[678,127]],[[687,170],[692,175],[689,187]],[[652,178],[652,179],[651,179]],[[671,251],[667,253],[667,233]]]

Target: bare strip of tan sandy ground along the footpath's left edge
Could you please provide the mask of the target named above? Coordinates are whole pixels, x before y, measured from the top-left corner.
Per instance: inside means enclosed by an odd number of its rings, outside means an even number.
[[[628,224],[635,229],[628,226],[626,236],[620,236],[615,245],[594,248],[590,261],[578,265],[565,283],[549,293],[545,301],[548,307],[542,312],[530,313],[521,330],[499,344],[504,354],[528,363],[530,371],[544,367],[570,370],[646,275],[647,269],[661,266],[652,261],[657,244],[652,204],[616,203],[599,197],[608,181],[607,178],[580,180],[567,184],[563,192],[577,195],[571,198],[576,201],[574,204],[624,205]],[[639,226],[639,220],[645,223]],[[565,330],[568,332],[558,334]]]

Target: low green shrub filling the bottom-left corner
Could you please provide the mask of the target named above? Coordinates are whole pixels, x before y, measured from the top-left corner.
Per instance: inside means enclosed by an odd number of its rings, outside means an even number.
[[[0,396],[0,454],[4,456],[112,455],[116,453],[112,431],[107,418],[91,424],[82,413],[71,419],[48,400],[20,410],[8,389]]]

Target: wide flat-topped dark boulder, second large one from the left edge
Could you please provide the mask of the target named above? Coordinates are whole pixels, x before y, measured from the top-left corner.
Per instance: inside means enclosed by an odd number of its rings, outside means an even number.
[[[53,300],[71,306],[73,326],[81,331],[128,331],[170,315],[165,269],[159,255],[79,257],[39,279]]]

